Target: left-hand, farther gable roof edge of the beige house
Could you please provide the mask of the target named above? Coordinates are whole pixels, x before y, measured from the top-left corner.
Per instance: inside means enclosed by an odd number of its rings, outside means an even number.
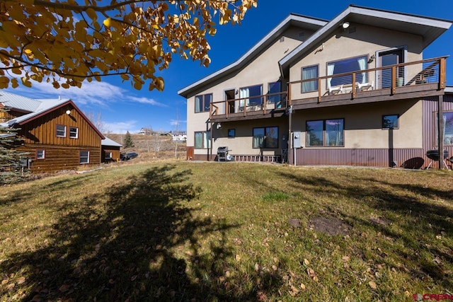
[[[260,54],[260,52],[263,52],[263,50],[265,50],[265,48],[268,47],[277,37],[280,37],[280,35],[282,35],[282,33],[285,30],[287,30],[289,26],[295,25],[316,31],[319,30],[319,28],[326,25],[326,23],[327,23],[326,20],[291,13],[289,14],[289,16],[287,16],[287,18],[285,18],[285,20],[280,22],[273,30],[271,30],[270,33],[265,35],[263,39],[258,41],[256,45],[254,45],[250,50],[248,50],[248,52],[243,54],[242,57],[237,59],[235,62],[229,64],[228,66],[225,66],[224,68],[215,71],[213,74],[205,76],[205,78],[200,79],[199,81],[196,81],[195,83],[192,83],[183,89],[180,89],[180,91],[178,91],[178,94],[185,98],[188,98],[188,95],[194,93],[194,91],[196,91],[197,88],[200,88],[200,86],[204,86],[207,83],[212,83],[217,79],[222,78],[222,76],[225,76],[226,74],[229,74],[233,71],[243,69],[244,66],[246,66],[253,59],[255,59],[258,56],[258,54]]]

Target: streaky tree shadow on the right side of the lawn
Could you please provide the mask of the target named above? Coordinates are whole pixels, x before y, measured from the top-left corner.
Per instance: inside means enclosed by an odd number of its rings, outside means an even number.
[[[377,178],[362,178],[369,183],[367,187],[360,185],[340,185],[339,182],[323,177],[300,176],[291,173],[280,173],[299,190],[317,190],[316,194],[331,197],[330,204],[322,204],[321,212],[342,219],[350,226],[363,230],[374,229],[391,240],[398,240],[403,247],[393,245],[391,252],[396,252],[396,258],[401,263],[411,264],[416,269],[410,269],[413,277],[420,279],[429,276],[436,284],[452,288],[453,281],[449,277],[445,264],[453,263],[453,246],[438,244],[441,234],[445,238],[453,234],[453,211],[440,203],[425,203],[423,200],[442,199],[447,204],[453,202],[453,192],[437,190],[432,187],[414,185],[413,183],[395,184]],[[323,190],[319,190],[319,187]],[[414,197],[415,195],[415,197]],[[382,214],[377,219],[366,217],[357,211],[351,211],[336,202],[337,199],[350,199],[351,202],[362,203],[363,207],[376,209]],[[316,201],[314,201],[316,202]],[[400,219],[398,219],[400,217]],[[401,219],[401,217],[403,217]],[[397,227],[392,228],[395,224]],[[417,238],[422,234],[423,238]],[[428,256],[430,255],[430,256]],[[385,256],[374,261],[384,261]],[[366,260],[365,260],[366,261]],[[449,273],[448,273],[449,272]]]

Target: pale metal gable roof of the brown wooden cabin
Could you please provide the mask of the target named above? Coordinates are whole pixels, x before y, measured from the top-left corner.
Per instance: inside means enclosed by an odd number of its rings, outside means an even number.
[[[0,92],[0,103],[3,103],[6,107],[18,109],[18,110],[30,110],[33,109],[32,112],[27,113],[25,115],[21,115],[20,117],[15,117],[11,120],[6,122],[0,123],[0,127],[14,127],[16,124],[26,124],[27,122],[31,122],[38,117],[42,117],[42,115],[46,115],[49,112],[62,108],[65,105],[70,104],[74,110],[79,112],[79,115],[90,124],[90,126],[96,131],[96,133],[104,139],[103,134],[94,126],[94,124],[84,115],[84,112],[72,102],[70,99],[33,99],[27,98],[21,95],[16,95],[14,93],[6,93],[1,91]],[[25,109],[27,108],[27,109]]]

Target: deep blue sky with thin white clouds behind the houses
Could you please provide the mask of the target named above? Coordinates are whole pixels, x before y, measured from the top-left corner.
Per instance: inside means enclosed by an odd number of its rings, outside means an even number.
[[[30,98],[71,98],[84,112],[91,112],[95,116],[101,113],[105,128],[113,133],[135,133],[142,127],[171,131],[176,130],[176,124],[178,129],[185,130],[186,103],[178,95],[178,90],[234,62],[289,13],[331,20],[349,4],[351,1],[343,0],[258,0],[258,8],[248,11],[241,25],[217,26],[217,34],[209,40],[212,60],[209,68],[190,59],[186,61],[174,57],[169,69],[159,74],[165,79],[163,92],[148,91],[147,85],[142,91],[137,91],[129,82],[122,83],[117,77],[103,79],[101,83],[84,83],[80,89],[35,85],[33,88],[8,88],[8,91]],[[356,0],[353,4],[453,20],[452,0]],[[423,57],[427,59],[452,54],[453,27],[433,42]],[[453,57],[447,59],[447,85],[453,86]]]

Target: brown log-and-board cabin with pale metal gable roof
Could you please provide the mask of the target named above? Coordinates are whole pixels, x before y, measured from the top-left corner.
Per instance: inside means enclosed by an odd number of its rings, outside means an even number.
[[[18,151],[28,153],[32,173],[74,170],[101,163],[103,134],[71,100],[33,100],[0,93],[8,111],[2,127],[18,129]],[[11,114],[19,112],[18,114]]]

